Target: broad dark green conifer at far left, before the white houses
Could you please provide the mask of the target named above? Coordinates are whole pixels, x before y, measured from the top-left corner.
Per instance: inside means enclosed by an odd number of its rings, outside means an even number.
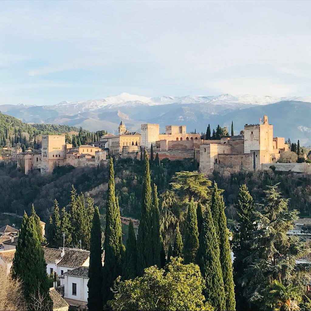
[[[26,212],[13,258],[12,276],[22,281],[23,292],[30,308],[34,299],[38,298],[38,292],[46,297],[44,299],[46,303],[49,302],[49,283],[44,251],[39,241],[35,220],[33,217],[28,217]]]

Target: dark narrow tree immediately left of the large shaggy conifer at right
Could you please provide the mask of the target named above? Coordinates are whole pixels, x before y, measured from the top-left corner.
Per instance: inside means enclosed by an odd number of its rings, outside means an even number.
[[[237,209],[239,225],[233,239],[233,278],[235,284],[235,296],[237,300],[237,309],[245,310],[248,308],[248,302],[244,297],[244,286],[242,277],[244,270],[248,267],[245,258],[250,256],[252,250],[250,249],[250,242],[253,239],[255,232],[254,212],[255,206],[253,198],[250,195],[246,184],[239,188],[235,207]]]

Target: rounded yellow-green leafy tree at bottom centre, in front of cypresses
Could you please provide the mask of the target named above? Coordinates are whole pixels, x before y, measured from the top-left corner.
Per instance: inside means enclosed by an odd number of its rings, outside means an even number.
[[[147,268],[142,277],[114,285],[112,310],[213,310],[204,302],[204,280],[195,264],[173,258],[165,269]]]

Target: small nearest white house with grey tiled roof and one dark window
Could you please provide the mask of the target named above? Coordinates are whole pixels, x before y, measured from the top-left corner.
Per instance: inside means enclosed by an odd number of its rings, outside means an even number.
[[[64,285],[64,299],[70,305],[84,306],[87,304],[89,268],[79,267],[65,272],[60,276],[60,284]]]

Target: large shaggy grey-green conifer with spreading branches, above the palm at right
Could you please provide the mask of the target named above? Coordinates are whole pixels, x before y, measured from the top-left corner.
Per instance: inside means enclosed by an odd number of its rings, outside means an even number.
[[[297,267],[295,260],[304,251],[303,243],[296,236],[288,236],[298,211],[287,208],[288,200],[281,197],[277,185],[267,186],[262,212],[255,212],[258,226],[251,241],[252,253],[245,258],[244,296],[250,309],[265,308],[265,289],[274,280],[285,286],[293,283],[303,286],[306,272]]]

